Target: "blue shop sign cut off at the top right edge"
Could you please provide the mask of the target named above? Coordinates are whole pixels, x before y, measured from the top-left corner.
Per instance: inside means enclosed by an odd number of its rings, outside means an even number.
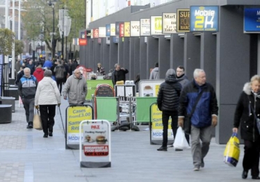
[[[245,8],[244,32],[260,33],[260,8]]]

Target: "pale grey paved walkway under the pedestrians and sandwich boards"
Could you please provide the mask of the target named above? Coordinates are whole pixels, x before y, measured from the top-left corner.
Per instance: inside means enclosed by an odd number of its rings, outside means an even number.
[[[157,151],[151,145],[147,126],[140,131],[111,133],[111,167],[83,168],[79,150],[65,149],[60,115],[56,114],[54,136],[43,138],[43,132],[26,129],[24,108],[18,108],[9,124],[0,124],[0,181],[3,182],[156,182],[156,181],[245,181],[241,179],[243,145],[237,167],[223,163],[225,145],[211,141],[204,158],[205,167],[193,172],[190,149]],[[67,101],[60,105],[63,122]],[[247,181],[251,181],[250,173]]]

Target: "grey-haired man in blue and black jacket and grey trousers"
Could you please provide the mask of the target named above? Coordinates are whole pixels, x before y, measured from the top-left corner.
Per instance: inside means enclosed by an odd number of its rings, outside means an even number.
[[[206,74],[203,69],[195,69],[193,77],[193,81],[181,91],[178,125],[184,127],[185,113],[191,113],[198,95],[202,92],[202,97],[191,116],[190,130],[193,170],[199,171],[200,167],[204,167],[204,157],[209,151],[212,128],[218,124],[218,101],[213,86],[206,83]]]

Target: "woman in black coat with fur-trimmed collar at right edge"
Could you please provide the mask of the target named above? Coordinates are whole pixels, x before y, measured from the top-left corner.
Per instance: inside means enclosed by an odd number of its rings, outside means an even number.
[[[238,132],[241,125],[241,138],[244,140],[244,158],[242,178],[247,178],[251,169],[252,179],[259,177],[260,137],[257,118],[260,117],[260,76],[255,75],[250,83],[245,83],[243,92],[236,105],[233,132]]]

